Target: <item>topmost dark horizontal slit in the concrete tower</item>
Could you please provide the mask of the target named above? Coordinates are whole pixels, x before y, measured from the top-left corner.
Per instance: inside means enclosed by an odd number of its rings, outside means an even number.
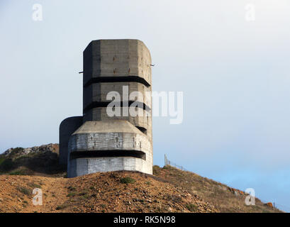
[[[94,77],[89,79],[89,81],[84,84],[84,87],[88,87],[94,83],[113,83],[113,82],[138,82],[144,84],[146,87],[150,87],[150,84],[142,77],[138,76],[128,76],[128,77]]]

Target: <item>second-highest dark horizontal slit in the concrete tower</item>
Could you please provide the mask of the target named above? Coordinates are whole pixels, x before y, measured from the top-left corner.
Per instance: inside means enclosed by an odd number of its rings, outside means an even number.
[[[113,103],[114,104],[114,101],[93,101],[91,104],[89,104],[89,106],[86,106],[84,108],[84,111],[88,111],[90,109],[94,109],[94,108],[97,108],[97,107],[107,107],[108,104],[111,104]],[[120,107],[130,107],[131,104],[136,104],[135,106],[132,106],[133,108],[137,107],[137,108],[142,108],[144,109],[145,111],[150,111],[150,107],[147,106],[146,104],[144,104],[143,102],[140,102],[140,101],[126,101],[126,102],[123,102],[123,101],[120,101],[119,102],[116,102],[116,106],[119,106],[120,104]]]

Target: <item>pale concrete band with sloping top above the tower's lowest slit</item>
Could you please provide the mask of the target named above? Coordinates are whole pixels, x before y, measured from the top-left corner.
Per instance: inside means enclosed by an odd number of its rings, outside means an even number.
[[[98,150],[151,152],[151,142],[128,121],[87,121],[69,139],[69,153]]]

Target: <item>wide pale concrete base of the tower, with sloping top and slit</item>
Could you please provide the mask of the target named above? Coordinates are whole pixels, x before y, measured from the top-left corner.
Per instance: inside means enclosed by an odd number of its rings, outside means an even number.
[[[152,175],[152,141],[129,121],[86,121],[68,143],[67,177],[94,172]]]

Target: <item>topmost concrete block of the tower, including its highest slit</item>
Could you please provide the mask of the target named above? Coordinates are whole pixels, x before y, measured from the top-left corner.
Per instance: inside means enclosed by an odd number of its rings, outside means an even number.
[[[150,65],[150,52],[140,40],[94,40],[84,50],[84,86],[113,80],[149,87]]]

